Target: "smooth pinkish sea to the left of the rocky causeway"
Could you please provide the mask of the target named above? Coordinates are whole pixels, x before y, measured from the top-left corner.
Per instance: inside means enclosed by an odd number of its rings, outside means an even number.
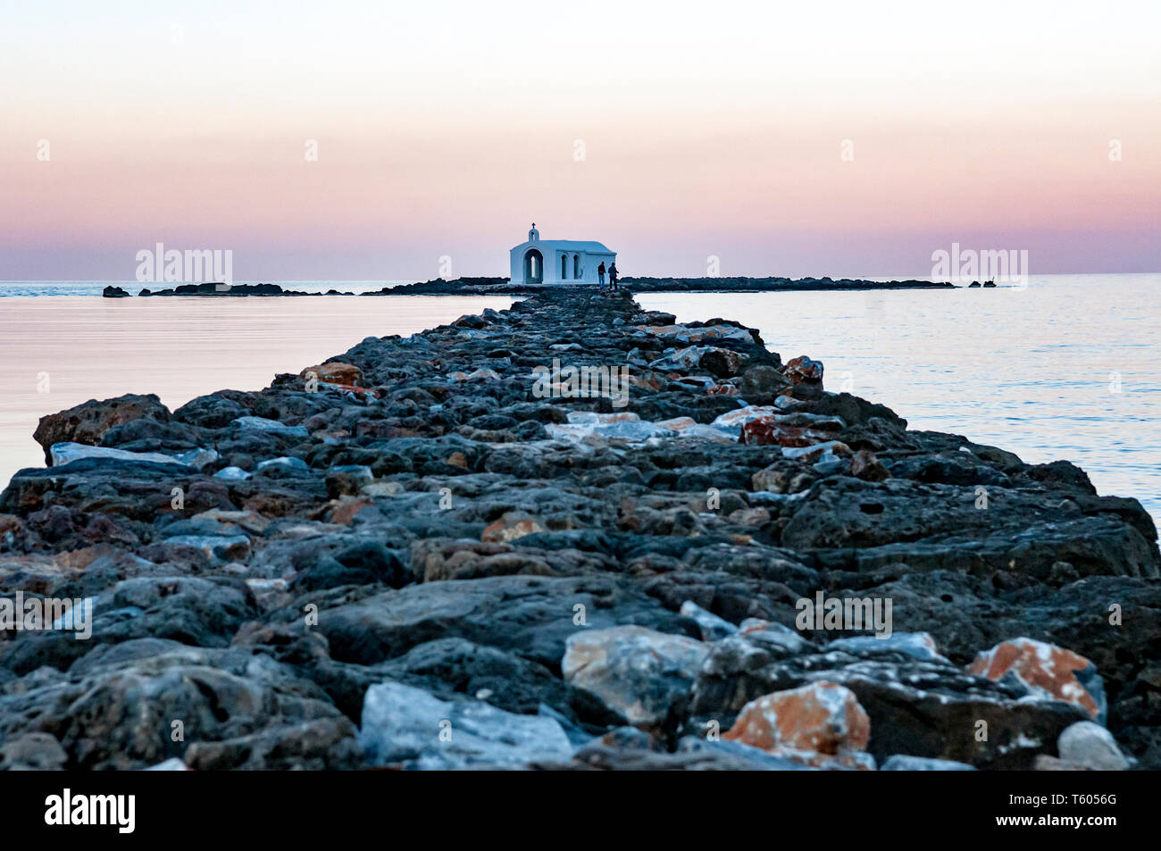
[[[103,286],[94,284],[98,296]],[[44,464],[33,432],[46,413],[127,392],[157,394],[173,410],[214,390],[260,390],[275,374],[320,363],[367,337],[412,334],[511,304],[498,296],[101,298],[93,291],[0,297],[0,489],[22,467]]]

